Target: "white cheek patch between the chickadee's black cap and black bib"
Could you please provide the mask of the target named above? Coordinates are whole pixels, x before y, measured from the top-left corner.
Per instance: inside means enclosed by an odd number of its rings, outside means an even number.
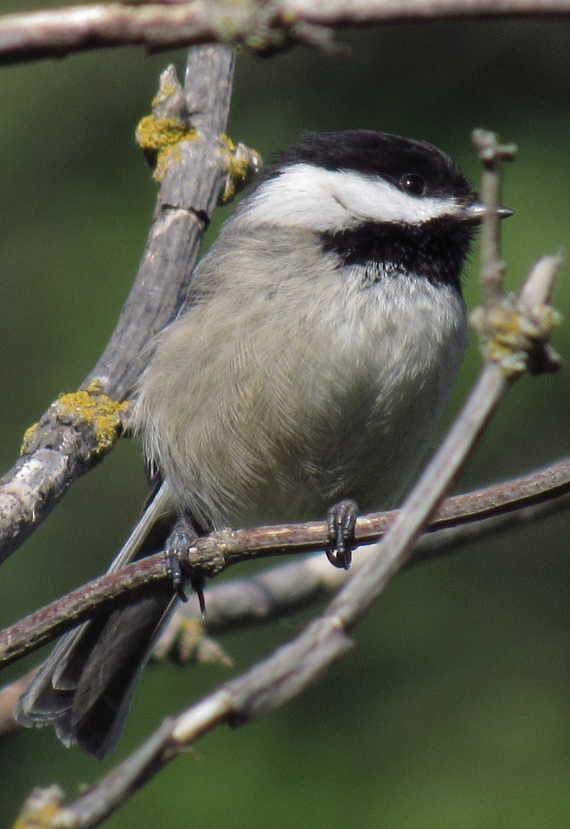
[[[263,182],[244,202],[242,216],[256,223],[335,232],[365,221],[419,225],[459,216],[452,196],[410,196],[383,178],[348,170],[293,164]]]

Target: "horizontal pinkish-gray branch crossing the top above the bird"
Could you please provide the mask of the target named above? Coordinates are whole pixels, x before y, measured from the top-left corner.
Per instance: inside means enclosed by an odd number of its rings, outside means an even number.
[[[255,51],[330,47],[333,29],[399,20],[554,16],[570,0],[157,0],[95,3],[0,17],[0,63],[61,57],[103,46],[149,51],[219,41]]]

